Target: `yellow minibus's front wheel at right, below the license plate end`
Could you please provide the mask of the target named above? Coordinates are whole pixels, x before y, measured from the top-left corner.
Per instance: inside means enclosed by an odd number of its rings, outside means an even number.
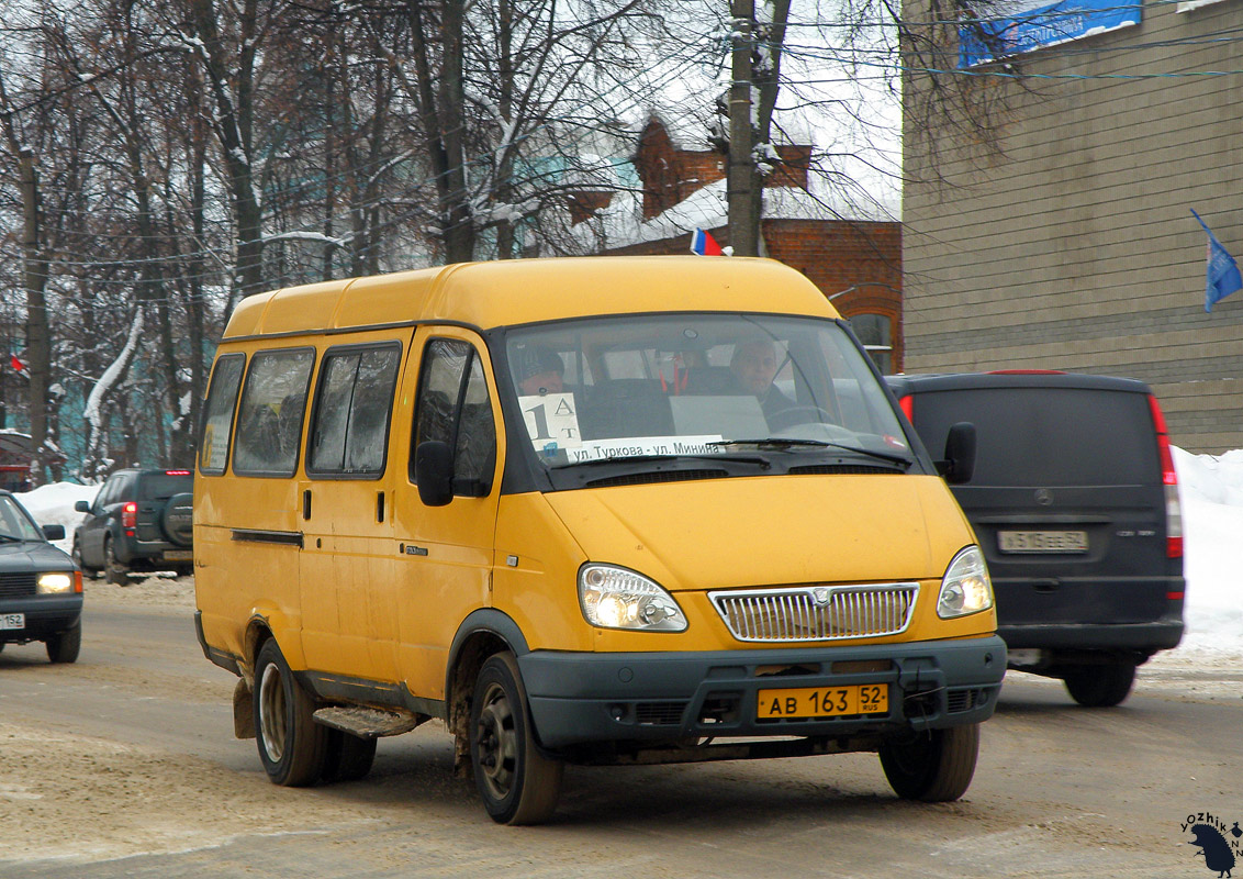
[[[926,730],[880,746],[880,765],[904,799],[945,803],[971,787],[979,755],[979,724]]]

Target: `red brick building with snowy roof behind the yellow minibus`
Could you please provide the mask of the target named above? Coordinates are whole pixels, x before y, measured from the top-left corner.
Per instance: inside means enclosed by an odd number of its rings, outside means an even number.
[[[810,278],[850,320],[881,369],[900,372],[901,224],[844,218],[828,206],[809,184],[809,145],[778,145],[777,154],[781,164],[764,191],[762,252]],[[603,252],[685,254],[696,226],[728,246],[722,153],[679,144],[664,121],[653,116],[639,136],[631,163],[641,189],[636,229],[602,240]],[[574,199],[572,219],[585,221],[610,203],[610,193],[583,191]]]

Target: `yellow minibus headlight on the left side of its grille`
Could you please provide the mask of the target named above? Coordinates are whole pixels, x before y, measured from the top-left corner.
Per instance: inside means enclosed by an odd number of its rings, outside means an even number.
[[[626,568],[584,564],[578,571],[578,601],[587,622],[602,629],[686,630],[686,617],[674,597]]]

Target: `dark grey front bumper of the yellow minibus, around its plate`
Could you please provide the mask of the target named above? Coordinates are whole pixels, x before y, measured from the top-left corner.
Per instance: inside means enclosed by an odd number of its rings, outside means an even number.
[[[851,670],[845,664],[866,664]],[[1006,674],[997,635],[868,647],[518,656],[539,743],[661,742],[702,736],[855,736],[978,724]],[[781,671],[781,674],[777,674]],[[889,684],[889,714],[758,720],[762,689]]]

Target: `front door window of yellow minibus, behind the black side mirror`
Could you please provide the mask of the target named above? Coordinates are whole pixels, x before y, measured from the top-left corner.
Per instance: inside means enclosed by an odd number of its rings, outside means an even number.
[[[410,446],[411,482],[414,450],[429,440],[439,440],[454,450],[455,495],[487,495],[496,465],[496,423],[482,361],[467,342],[428,342]]]

